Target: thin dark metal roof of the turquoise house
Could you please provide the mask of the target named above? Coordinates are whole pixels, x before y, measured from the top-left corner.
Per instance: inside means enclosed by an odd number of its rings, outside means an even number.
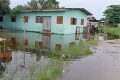
[[[89,11],[87,11],[85,8],[58,8],[58,9],[44,9],[44,10],[25,10],[22,12],[59,12],[59,11],[65,11],[65,10],[80,10],[84,12],[87,15],[92,15]]]

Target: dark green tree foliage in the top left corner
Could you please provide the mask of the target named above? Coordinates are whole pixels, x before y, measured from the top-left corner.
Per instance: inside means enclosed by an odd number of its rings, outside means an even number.
[[[0,14],[4,15],[10,12],[9,0],[0,0]]]

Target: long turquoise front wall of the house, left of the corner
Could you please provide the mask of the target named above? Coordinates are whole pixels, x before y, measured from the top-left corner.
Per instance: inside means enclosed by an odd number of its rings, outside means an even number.
[[[28,23],[24,24],[24,16],[28,16]],[[12,30],[26,30],[26,31],[37,31],[42,32],[42,23],[36,23],[36,16],[51,16],[51,33],[64,33],[64,25],[56,24],[57,16],[64,16],[64,12],[29,12],[20,13],[16,17],[16,22],[11,22],[11,15],[4,16],[4,27]]]

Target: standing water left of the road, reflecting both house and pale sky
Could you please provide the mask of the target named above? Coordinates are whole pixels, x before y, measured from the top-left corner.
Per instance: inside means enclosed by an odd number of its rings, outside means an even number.
[[[27,80],[31,77],[31,72],[37,74],[40,66],[47,65],[49,58],[46,58],[42,51],[63,51],[66,47],[78,44],[81,40],[88,40],[84,34],[72,35],[46,35],[32,32],[1,32],[0,36],[7,39],[7,45],[13,50],[12,58],[7,58],[9,62],[0,62],[0,75],[3,80],[21,79]],[[41,51],[42,54],[40,54]],[[6,56],[9,56],[6,55]],[[31,66],[34,71],[30,71]],[[40,72],[40,71],[39,71]]]

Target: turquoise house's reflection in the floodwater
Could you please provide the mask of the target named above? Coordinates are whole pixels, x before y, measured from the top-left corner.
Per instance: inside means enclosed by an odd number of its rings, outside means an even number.
[[[38,34],[32,32],[26,32],[26,41],[24,41],[23,32],[9,32],[9,33],[0,33],[5,36],[9,43],[14,46],[18,45],[19,47],[25,46],[25,48],[30,49],[44,49],[51,51],[61,51],[65,47],[70,46],[71,44],[76,44],[79,40],[84,40],[83,34],[70,34],[70,35],[56,35],[56,34]]]

